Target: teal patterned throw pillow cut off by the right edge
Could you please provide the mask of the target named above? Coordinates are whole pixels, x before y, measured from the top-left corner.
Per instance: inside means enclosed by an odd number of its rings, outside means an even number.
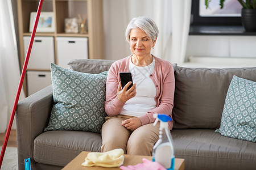
[[[256,142],[256,82],[233,76],[215,132],[226,137]]]

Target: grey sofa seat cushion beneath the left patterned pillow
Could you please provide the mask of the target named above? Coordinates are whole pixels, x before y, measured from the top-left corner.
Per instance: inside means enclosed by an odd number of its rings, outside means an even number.
[[[38,163],[64,167],[82,151],[100,152],[101,145],[101,134],[87,131],[46,131],[34,140],[34,159]]]

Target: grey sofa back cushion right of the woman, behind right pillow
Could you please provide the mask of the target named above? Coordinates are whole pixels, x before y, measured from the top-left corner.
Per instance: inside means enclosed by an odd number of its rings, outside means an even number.
[[[233,75],[256,81],[256,68],[207,69],[177,66],[174,128],[220,128],[226,92]]]

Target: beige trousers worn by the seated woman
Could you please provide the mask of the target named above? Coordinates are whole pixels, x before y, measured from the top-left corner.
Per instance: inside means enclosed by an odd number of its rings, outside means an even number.
[[[158,141],[159,122],[155,126],[147,124],[130,131],[122,126],[122,121],[131,117],[121,114],[106,117],[101,131],[101,152],[122,148],[125,154],[151,156],[153,146]]]

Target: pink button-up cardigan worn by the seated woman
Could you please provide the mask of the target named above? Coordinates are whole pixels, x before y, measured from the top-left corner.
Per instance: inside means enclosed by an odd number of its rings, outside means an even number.
[[[108,78],[106,82],[106,102],[105,112],[108,116],[115,116],[120,113],[123,108],[122,101],[117,99],[117,87],[120,82],[120,72],[129,71],[129,59],[131,56],[125,57],[115,61],[109,69]],[[150,78],[156,87],[156,108],[147,112],[143,116],[139,117],[142,125],[150,124],[155,121],[153,117],[154,113],[163,113],[172,117],[172,108],[174,107],[174,69],[172,64],[168,61],[164,61],[158,57],[155,57],[155,68]],[[169,122],[169,129],[172,129],[174,122]]]

